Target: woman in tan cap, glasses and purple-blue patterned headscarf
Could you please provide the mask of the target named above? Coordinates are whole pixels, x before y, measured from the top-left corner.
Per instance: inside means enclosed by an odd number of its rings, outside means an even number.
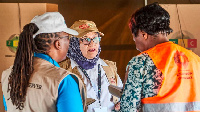
[[[79,35],[70,38],[67,57],[60,66],[82,78],[87,89],[87,98],[96,101],[88,105],[89,112],[112,111],[119,99],[109,93],[110,84],[122,87],[117,74],[116,64],[99,58],[100,40],[103,33],[99,32],[95,23],[87,20],[76,21],[71,27]]]

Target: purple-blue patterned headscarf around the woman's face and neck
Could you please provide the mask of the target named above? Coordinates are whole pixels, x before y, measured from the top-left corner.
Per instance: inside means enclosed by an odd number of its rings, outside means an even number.
[[[83,56],[81,50],[80,50],[80,43],[79,39],[76,37],[70,38],[70,44],[69,44],[69,50],[67,52],[67,57],[76,61],[76,63],[82,67],[83,69],[92,69],[96,65],[99,54],[101,52],[101,47],[99,45],[99,50],[97,53],[97,56],[93,59],[87,59]]]

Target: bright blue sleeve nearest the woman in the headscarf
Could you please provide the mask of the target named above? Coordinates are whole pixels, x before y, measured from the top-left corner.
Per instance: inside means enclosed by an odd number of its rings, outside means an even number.
[[[65,77],[58,87],[58,112],[83,112],[78,84],[71,75]]]

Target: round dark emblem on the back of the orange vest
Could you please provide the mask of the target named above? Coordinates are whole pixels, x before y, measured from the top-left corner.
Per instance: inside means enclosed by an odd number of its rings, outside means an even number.
[[[178,67],[184,67],[187,68],[189,60],[188,57],[180,51],[176,51],[174,54],[174,61],[178,65]]]

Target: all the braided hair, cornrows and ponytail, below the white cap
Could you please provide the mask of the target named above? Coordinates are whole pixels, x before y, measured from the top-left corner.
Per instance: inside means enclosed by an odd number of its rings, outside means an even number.
[[[24,26],[19,36],[19,43],[12,71],[8,77],[8,92],[16,109],[22,110],[29,79],[33,73],[34,52],[47,53],[52,42],[59,38],[58,33],[42,33],[33,38],[38,31],[34,23]]]

